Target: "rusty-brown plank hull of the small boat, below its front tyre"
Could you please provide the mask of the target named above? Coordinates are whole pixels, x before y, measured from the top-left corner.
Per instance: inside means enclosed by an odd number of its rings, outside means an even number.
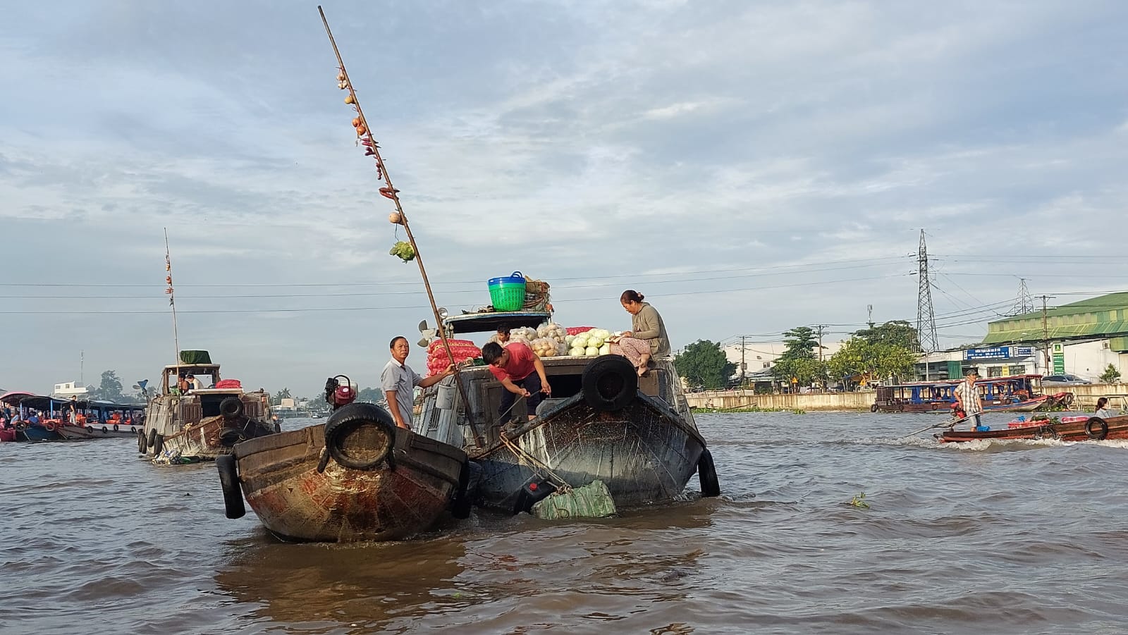
[[[329,459],[317,471],[325,424],[235,447],[244,497],[266,529],[289,539],[398,540],[435,526],[458,491],[466,453],[397,430],[391,461],[370,470]]]

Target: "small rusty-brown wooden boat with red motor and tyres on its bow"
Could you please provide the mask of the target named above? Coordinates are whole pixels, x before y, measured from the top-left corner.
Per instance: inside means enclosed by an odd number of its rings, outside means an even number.
[[[340,376],[338,376],[340,377]],[[397,427],[374,404],[354,404],[336,378],[324,424],[244,441],[217,458],[228,518],[246,510],[284,539],[399,540],[435,526],[447,510],[469,514],[460,449]]]

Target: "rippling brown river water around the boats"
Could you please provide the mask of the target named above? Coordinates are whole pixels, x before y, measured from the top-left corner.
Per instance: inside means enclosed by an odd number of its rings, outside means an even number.
[[[133,440],[0,443],[0,632],[1128,632],[1128,443],[899,439],[938,421],[705,414],[720,499],[347,546]]]

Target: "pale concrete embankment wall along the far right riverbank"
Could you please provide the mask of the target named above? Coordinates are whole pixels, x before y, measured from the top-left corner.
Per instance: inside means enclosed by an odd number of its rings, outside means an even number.
[[[1061,391],[1073,393],[1076,397],[1073,407],[1092,411],[1096,399],[1110,395],[1128,395],[1128,383],[1085,383],[1081,386],[1049,386],[1047,394]],[[752,390],[706,390],[689,393],[686,400],[690,407],[716,411],[864,411],[869,412],[876,397],[874,390],[861,393],[818,393],[797,395],[757,395]],[[1113,408],[1128,407],[1113,399]]]

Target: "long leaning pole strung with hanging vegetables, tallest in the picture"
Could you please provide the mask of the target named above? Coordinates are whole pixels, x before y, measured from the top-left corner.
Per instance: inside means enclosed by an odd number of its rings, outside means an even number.
[[[407,224],[407,214],[404,213],[404,208],[399,202],[399,191],[391,184],[391,177],[388,176],[388,170],[384,165],[384,159],[380,157],[380,147],[376,139],[372,138],[372,130],[368,125],[368,121],[364,117],[364,111],[360,106],[360,100],[356,98],[356,91],[353,89],[352,81],[349,80],[349,71],[345,70],[345,62],[341,58],[341,50],[337,48],[337,43],[333,38],[333,32],[329,29],[329,21],[325,18],[325,11],[321,7],[317,7],[317,12],[321,16],[321,24],[325,25],[325,34],[329,36],[329,44],[333,45],[333,52],[337,56],[337,88],[342,90],[347,90],[349,95],[345,96],[345,104],[353,107],[356,116],[353,117],[352,124],[356,131],[356,136],[360,139],[361,145],[364,147],[364,156],[372,157],[376,160],[376,177],[385,183],[384,187],[380,187],[380,195],[385,199],[391,200],[396,205],[396,211],[388,215],[388,221],[399,227],[404,228],[404,232],[407,233],[407,240],[397,241],[389,254],[393,256],[399,256],[405,263],[415,261],[420,267],[420,275],[423,277],[423,286],[426,289],[428,300],[431,301],[431,311],[434,314],[435,323],[439,325],[438,336],[442,339],[442,345],[447,350],[447,354],[451,360],[455,359],[455,354],[450,350],[450,342],[447,339],[446,329],[442,328],[442,316],[439,314],[439,305],[434,301],[434,292],[431,290],[431,282],[426,276],[426,268],[423,266],[423,258],[418,255],[418,246],[415,244],[415,236],[412,233],[412,228]],[[455,365],[455,385],[458,386],[458,391],[462,397],[462,403],[467,405],[467,421],[470,424],[470,431],[474,433],[474,442],[479,447],[485,447],[485,438],[478,430],[477,424],[474,421],[473,409],[469,407],[469,398],[466,395],[466,386],[462,385],[461,377],[459,376],[459,367]]]

